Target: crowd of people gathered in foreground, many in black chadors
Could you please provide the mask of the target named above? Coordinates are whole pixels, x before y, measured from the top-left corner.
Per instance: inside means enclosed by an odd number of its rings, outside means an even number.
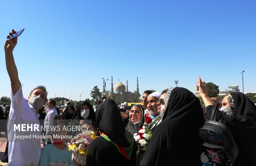
[[[14,33],[12,30],[9,35]],[[199,129],[210,118],[213,105],[218,103],[207,96],[206,83],[200,77],[199,94],[206,110],[191,91],[175,87],[161,93],[144,91],[141,104],[131,107],[125,102],[119,108],[114,100],[102,98],[94,108],[87,101],[81,102],[77,108],[67,105],[60,115],[56,110],[56,102],[46,101],[47,90],[44,86],[32,89],[28,101],[24,99],[12,54],[16,44],[17,37],[5,42],[4,47],[6,68],[11,82],[11,106],[7,118],[9,166],[48,166],[57,161],[78,166],[72,160],[72,152],[67,150],[66,142],[69,140],[44,140],[45,146],[41,148],[40,138],[17,140],[15,135],[24,133],[15,130],[14,125],[23,122],[38,126],[59,125],[63,129],[69,125],[84,126],[88,124],[88,120],[97,138],[90,142],[86,166],[202,165]],[[42,118],[44,104],[45,115]],[[239,147],[234,165],[255,165],[256,105],[244,94],[233,92],[224,96],[222,105],[217,107],[216,115],[216,122],[228,126]],[[45,119],[43,124],[38,120],[40,116]],[[29,134],[41,135],[42,131],[29,131]],[[50,133],[43,133],[47,134]],[[66,131],[61,134],[70,133]],[[78,133],[73,133],[76,134]],[[214,162],[209,164],[221,165]]]

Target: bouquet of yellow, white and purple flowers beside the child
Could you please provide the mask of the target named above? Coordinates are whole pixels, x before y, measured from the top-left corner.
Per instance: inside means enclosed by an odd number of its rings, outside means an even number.
[[[75,159],[78,165],[85,166],[88,147],[90,142],[95,138],[97,138],[97,136],[95,136],[93,131],[83,131],[74,136],[74,138],[71,139],[71,143],[68,143],[68,150],[73,151],[72,159]]]

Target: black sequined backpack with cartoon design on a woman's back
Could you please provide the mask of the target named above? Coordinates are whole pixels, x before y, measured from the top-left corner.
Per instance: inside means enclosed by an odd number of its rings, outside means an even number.
[[[216,110],[218,111],[216,106],[213,106],[209,121],[199,129],[199,135],[204,141],[200,150],[217,166],[233,166],[239,149],[228,126],[215,121]]]

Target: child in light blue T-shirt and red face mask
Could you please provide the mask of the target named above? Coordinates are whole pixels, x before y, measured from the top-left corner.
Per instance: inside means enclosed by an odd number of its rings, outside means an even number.
[[[59,131],[53,131],[54,135],[57,136],[68,136],[69,133],[65,129],[69,126],[68,122],[65,120],[60,120],[57,122],[59,126]],[[52,136],[53,138],[53,136]],[[72,152],[66,147],[65,139],[52,139],[53,143],[43,147],[41,151],[41,157],[39,161],[39,166],[48,166],[49,164],[59,164],[59,166],[72,166]]]

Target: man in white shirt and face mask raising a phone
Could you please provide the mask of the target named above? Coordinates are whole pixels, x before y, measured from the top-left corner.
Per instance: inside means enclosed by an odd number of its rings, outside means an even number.
[[[14,33],[16,31],[12,30],[9,35]],[[12,54],[16,44],[17,37],[9,39],[4,46],[6,68],[12,88],[12,104],[7,125],[9,140],[8,166],[37,166],[41,153],[40,138],[38,138],[41,135],[38,111],[43,107],[47,98],[47,91],[44,86],[38,86],[31,91],[28,96],[28,102],[23,97],[21,82],[19,81],[17,67]],[[25,131],[15,129],[14,127],[19,124],[36,126],[39,130],[33,127],[30,130],[25,128]],[[20,139],[17,136],[32,136],[32,138]],[[33,136],[36,136],[36,138],[33,138]]]

